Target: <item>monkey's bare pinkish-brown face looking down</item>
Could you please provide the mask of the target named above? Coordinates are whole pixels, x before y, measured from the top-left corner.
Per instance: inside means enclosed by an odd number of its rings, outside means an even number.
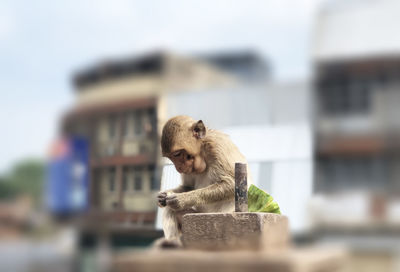
[[[172,152],[168,158],[181,174],[200,174],[206,169],[206,163],[200,155],[191,155],[185,149]]]

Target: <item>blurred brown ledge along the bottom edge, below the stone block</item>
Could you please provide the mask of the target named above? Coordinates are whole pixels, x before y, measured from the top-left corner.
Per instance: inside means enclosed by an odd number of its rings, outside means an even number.
[[[160,250],[125,252],[115,256],[113,271],[137,272],[339,272],[347,253],[339,248],[309,248],[283,252]]]

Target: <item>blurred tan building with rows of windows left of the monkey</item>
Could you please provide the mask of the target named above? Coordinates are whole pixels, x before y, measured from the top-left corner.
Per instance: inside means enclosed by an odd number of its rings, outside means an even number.
[[[78,72],[76,103],[64,119],[63,133],[90,143],[90,214],[153,228],[163,97],[233,83],[233,77],[206,62],[167,53],[108,61]]]

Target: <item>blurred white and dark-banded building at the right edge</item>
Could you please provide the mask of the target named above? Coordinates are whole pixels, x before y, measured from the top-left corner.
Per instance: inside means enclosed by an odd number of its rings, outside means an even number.
[[[364,254],[355,271],[398,269],[399,9],[391,0],[336,1],[316,22],[312,219],[322,240]]]

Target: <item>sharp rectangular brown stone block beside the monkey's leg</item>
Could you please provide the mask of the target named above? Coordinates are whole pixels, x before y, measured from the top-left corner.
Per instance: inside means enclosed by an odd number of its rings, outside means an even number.
[[[191,249],[271,251],[289,244],[287,217],[272,213],[187,214],[182,233]]]

